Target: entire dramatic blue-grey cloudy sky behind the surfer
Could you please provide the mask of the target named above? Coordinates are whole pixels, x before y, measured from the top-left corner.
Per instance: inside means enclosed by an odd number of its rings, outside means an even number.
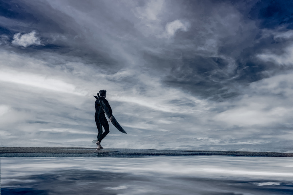
[[[293,152],[292,7],[2,0],[0,145]]]

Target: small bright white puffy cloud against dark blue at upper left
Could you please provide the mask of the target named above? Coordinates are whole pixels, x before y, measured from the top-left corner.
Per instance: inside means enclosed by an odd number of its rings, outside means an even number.
[[[14,34],[13,40],[11,43],[13,45],[18,45],[23,47],[27,47],[30,45],[42,45],[40,38],[37,36],[37,32],[34,30],[26,34],[21,34],[21,33]]]

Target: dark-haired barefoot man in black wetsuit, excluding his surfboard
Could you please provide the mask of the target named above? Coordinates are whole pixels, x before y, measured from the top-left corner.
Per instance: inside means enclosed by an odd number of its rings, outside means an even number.
[[[102,139],[104,139],[106,137],[106,135],[110,132],[109,131],[109,124],[108,122],[112,122],[112,109],[111,106],[109,105],[109,102],[105,99],[106,98],[106,90],[100,90],[99,94],[101,99],[104,100],[105,105],[107,106],[109,112],[110,112],[110,119],[109,121],[107,121],[106,117],[105,117],[105,112],[100,104],[100,101],[97,99],[95,102],[95,108],[96,108],[96,113],[95,113],[95,121],[97,124],[97,128],[98,128],[98,140],[96,141],[96,144],[98,145],[97,150],[102,149],[103,147],[101,146],[101,141]],[[104,132],[103,132],[103,127],[104,127]]]

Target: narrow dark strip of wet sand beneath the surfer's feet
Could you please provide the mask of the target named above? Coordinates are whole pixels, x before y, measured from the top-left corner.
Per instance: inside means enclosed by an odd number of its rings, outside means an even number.
[[[0,157],[138,157],[138,156],[274,156],[293,157],[293,153],[251,151],[195,151],[154,149],[101,149],[79,147],[0,147]]]

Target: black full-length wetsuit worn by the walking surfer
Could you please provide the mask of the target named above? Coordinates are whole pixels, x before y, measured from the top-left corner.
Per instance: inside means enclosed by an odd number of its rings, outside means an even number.
[[[104,100],[105,105],[107,106],[111,116],[112,116],[112,108],[109,105],[109,102],[104,98],[101,97],[101,99]],[[98,141],[102,141],[102,139],[104,139],[106,137],[106,135],[110,132],[109,131],[109,124],[108,124],[108,120],[105,117],[105,112],[100,104],[100,101],[97,99],[95,102],[95,108],[96,108],[96,113],[95,113],[95,121],[97,124],[97,128],[98,128]],[[103,132],[103,128],[105,132]]]

